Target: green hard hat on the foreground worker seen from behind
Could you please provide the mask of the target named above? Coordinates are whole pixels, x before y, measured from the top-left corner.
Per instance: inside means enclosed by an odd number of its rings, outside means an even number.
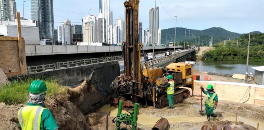
[[[41,93],[47,91],[46,84],[41,80],[34,80],[29,87],[31,93]]]

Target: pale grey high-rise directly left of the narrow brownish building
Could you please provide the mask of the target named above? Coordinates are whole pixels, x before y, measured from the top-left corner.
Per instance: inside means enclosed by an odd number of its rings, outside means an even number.
[[[71,21],[64,20],[61,23],[61,41],[62,45],[71,45]]]

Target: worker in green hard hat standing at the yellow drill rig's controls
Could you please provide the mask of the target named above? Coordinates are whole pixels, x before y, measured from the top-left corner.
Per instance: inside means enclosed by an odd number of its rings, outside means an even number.
[[[167,76],[167,80],[169,80],[167,84],[165,84],[164,86],[161,86],[161,85],[158,85],[158,86],[167,88],[167,98],[168,98],[168,103],[169,103],[168,109],[172,109],[173,108],[174,81],[172,79],[171,74]]]

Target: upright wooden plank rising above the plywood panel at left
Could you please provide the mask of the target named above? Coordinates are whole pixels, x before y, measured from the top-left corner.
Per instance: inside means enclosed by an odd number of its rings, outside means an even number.
[[[23,56],[20,54],[21,53],[21,49],[22,49],[22,34],[21,34],[21,25],[20,25],[20,13],[16,12],[16,16],[17,16],[17,34],[18,34],[18,55],[19,55],[19,64],[20,64],[20,74],[24,74],[24,58]]]

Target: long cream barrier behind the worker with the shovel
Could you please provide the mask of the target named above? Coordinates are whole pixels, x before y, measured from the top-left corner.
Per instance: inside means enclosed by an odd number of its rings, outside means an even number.
[[[221,81],[194,81],[194,95],[201,95],[200,87],[207,87],[208,84],[212,84],[214,86],[215,92],[218,95],[218,100],[226,100],[239,102],[242,97],[247,96],[247,89],[250,88],[250,96],[243,98],[240,103],[244,102],[248,99],[247,104],[264,106],[264,86],[256,85],[256,84],[247,84],[247,83],[234,83],[234,82],[221,82]],[[245,94],[246,93],[246,94]],[[203,96],[206,96],[203,94]]]

